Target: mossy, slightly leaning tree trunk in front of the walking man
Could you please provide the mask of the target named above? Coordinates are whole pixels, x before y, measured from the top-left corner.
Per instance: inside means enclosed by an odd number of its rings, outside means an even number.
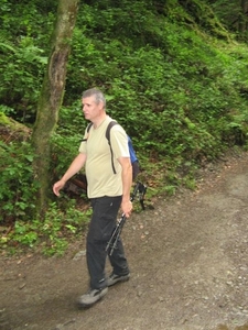
[[[58,111],[63,100],[66,64],[76,23],[78,1],[58,1],[56,24],[52,35],[51,55],[37,103],[32,143],[36,152],[34,162],[35,178],[41,185],[37,196],[37,212],[40,216],[45,213],[51,194],[50,138],[57,123]]]

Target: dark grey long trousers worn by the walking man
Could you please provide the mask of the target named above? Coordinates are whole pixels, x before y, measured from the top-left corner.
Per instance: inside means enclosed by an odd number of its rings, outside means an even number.
[[[105,249],[116,226],[121,198],[121,196],[104,196],[91,199],[93,216],[87,234],[86,256],[90,288],[93,289],[106,287],[105,265],[107,252]],[[112,255],[109,255],[109,261],[115,274],[126,275],[129,273],[121,240],[118,241]]]

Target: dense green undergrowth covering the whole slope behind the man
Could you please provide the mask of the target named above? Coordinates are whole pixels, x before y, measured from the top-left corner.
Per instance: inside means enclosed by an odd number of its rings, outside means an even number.
[[[80,95],[90,87],[101,88],[108,113],[131,135],[148,198],[175,194],[181,185],[194,189],[200,166],[229,147],[246,147],[246,40],[235,38],[206,2],[80,3],[52,138],[51,186],[77,153],[86,125]],[[1,10],[0,111],[32,129],[56,8],[4,0]],[[35,152],[29,141],[2,135],[0,153],[2,246],[42,242],[47,254],[63,251],[64,237],[80,232],[87,215],[65,195],[51,201],[44,222],[35,219]]]

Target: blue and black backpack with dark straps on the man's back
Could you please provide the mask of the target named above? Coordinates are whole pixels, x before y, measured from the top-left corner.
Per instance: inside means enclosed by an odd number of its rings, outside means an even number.
[[[107,139],[108,141],[108,144],[109,144],[109,147],[110,147],[110,153],[111,153],[111,166],[112,166],[112,172],[116,174],[116,168],[115,168],[115,165],[114,165],[114,153],[112,153],[112,147],[111,147],[111,142],[110,142],[110,130],[114,125],[117,125],[118,122],[112,120],[110,121],[110,123],[108,124],[107,127],[107,130],[106,130],[106,133],[105,133],[105,138]],[[87,127],[87,133],[89,132],[90,128],[91,128],[93,123],[90,122]],[[128,147],[129,147],[129,154],[130,154],[130,161],[131,161],[131,164],[132,164],[132,179],[134,180],[134,178],[137,177],[137,175],[139,174],[140,172],[140,168],[139,168],[139,161],[137,158],[137,155],[136,155],[136,152],[134,152],[134,148],[133,148],[133,145],[132,145],[132,141],[131,141],[131,138],[129,135],[128,136]]]

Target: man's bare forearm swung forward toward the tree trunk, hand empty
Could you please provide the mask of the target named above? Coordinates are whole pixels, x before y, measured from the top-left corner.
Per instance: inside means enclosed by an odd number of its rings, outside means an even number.
[[[56,196],[60,196],[60,190],[63,189],[66,182],[74,176],[77,172],[82,169],[82,167],[85,165],[86,161],[86,154],[79,153],[76,158],[73,161],[73,163],[69,165],[66,173],[63,175],[63,177],[53,185],[53,193]]]

